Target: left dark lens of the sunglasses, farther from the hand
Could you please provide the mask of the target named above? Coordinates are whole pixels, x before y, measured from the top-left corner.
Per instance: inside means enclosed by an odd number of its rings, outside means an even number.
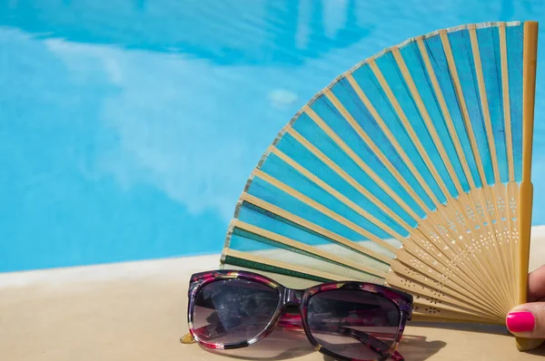
[[[280,303],[276,289],[245,279],[223,279],[205,285],[193,307],[193,331],[203,341],[240,344],[269,325]]]

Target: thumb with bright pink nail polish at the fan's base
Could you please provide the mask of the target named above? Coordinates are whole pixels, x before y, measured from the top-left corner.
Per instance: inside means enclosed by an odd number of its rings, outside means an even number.
[[[507,315],[510,333],[523,338],[545,338],[545,302],[514,307]]]

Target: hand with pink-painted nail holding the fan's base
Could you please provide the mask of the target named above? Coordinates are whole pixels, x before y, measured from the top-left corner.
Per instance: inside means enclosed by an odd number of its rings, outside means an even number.
[[[545,265],[528,277],[528,302],[507,315],[510,333],[523,338],[545,338]]]

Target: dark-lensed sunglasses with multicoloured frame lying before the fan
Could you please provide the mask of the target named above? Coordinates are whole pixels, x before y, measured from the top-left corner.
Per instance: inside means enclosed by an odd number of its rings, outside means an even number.
[[[396,349],[412,296],[396,289],[353,281],[292,289],[253,272],[214,270],[194,274],[188,296],[183,343],[233,349],[275,327],[302,327],[314,348],[338,360],[404,359]]]

